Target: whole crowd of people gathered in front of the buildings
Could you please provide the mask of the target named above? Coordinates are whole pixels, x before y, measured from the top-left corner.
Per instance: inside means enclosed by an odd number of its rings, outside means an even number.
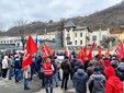
[[[46,58],[38,56],[33,57],[32,65],[24,69],[22,69],[22,60],[23,54],[1,54],[0,75],[3,80],[11,80],[14,77],[15,83],[24,79],[24,90],[30,90],[29,81],[37,74],[46,93],[54,93],[53,81],[56,88],[68,90],[69,79],[76,93],[87,93],[88,90],[90,93],[123,93],[124,58],[117,59],[116,55],[101,57],[97,55],[92,60],[84,58],[84,61],[81,61],[76,54],[71,54],[71,58],[65,56],[63,62],[57,60],[57,56]]]

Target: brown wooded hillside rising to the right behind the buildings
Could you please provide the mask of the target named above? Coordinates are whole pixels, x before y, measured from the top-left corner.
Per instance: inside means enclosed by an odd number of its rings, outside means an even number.
[[[120,28],[124,27],[124,1],[122,1],[119,4],[115,4],[113,7],[110,7],[105,10],[95,12],[93,14],[90,14],[88,16],[77,16],[77,18],[70,18],[76,25],[80,26],[89,26],[92,30],[97,28]],[[68,19],[65,19],[64,21],[67,21]],[[36,33],[36,31],[41,30],[41,34],[44,33],[44,28],[47,32],[53,31],[60,31],[61,30],[61,22],[53,22],[52,20],[48,23],[45,22],[32,22],[30,24],[25,25],[25,32],[24,33]],[[14,36],[19,35],[20,27],[14,26],[8,32],[4,33],[4,35]]]

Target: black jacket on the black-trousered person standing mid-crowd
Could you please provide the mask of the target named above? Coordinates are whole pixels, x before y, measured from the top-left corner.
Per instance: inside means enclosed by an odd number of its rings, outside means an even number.
[[[70,73],[71,67],[70,67],[70,63],[69,63],[68,59],[65,59],[65,60],[61,62],[61,70],[63,70],[63,72],[65,72],[65,73]]]

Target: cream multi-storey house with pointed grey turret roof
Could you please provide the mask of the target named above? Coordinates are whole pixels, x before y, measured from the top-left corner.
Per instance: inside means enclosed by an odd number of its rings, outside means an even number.
[[[88,27],[76,26],[71,20],[65,24],[63,33],[64,46],[86,46],[89,43]]]

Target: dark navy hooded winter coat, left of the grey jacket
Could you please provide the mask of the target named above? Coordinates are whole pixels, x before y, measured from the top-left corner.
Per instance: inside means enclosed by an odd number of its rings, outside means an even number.
[[[83,69],[78,69],[78,71],[74,75],[74,80],[77,93],[87,93],[88,74]]]

